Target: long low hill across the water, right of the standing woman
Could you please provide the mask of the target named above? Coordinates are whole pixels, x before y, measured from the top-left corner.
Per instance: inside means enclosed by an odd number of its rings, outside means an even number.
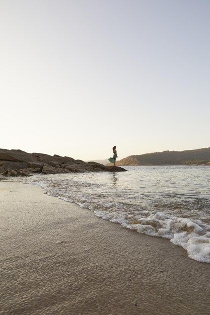
[[[130,155],[116,165],[202,165],[210,162],[210,147],[185,151],[163,151]]]

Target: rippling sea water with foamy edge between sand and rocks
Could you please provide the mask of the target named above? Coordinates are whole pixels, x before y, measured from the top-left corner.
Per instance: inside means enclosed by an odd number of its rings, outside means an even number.
[[[210,263],[210,167],[136,166],[127,172],[33,175],[19,181],[124,228],[169,239]],[[17,180],[14,179],[14,180]]]

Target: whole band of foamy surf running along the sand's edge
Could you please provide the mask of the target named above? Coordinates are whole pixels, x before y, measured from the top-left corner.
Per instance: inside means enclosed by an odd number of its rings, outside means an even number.
[[[17,180],[17,178],[16,178]],[[18,179],[28,184],[40,185],[45,193],[68,202],[75,202],[81,208],[87,208],[98,217],[121,224],[125,228],[136,230],[154,237],[169,239],[175,245],[184,248],[188,256],[196,261],[210,263],[210,225],[201,220],[173,216],[162,211],[137,209],[133,204],[123,204],[110,199],[93,198],[75,188],[69,189],[64,181],[58,187],[50,180],[39,178]]]

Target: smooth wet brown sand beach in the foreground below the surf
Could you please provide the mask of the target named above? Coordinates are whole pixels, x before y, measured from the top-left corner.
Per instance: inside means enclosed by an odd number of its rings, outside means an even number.
[[[202,314],[210,264],[38,186],[0,182],[0,314]]]

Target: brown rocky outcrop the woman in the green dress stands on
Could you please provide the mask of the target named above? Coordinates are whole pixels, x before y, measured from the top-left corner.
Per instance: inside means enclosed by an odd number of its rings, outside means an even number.
[[[96,162],[84,162],[57,154],[27,153],[22,150],[0,149],[0,174],[29,176],[41,174],[67,174],[78,172],[122,172],[120,167],[104,166]]]

